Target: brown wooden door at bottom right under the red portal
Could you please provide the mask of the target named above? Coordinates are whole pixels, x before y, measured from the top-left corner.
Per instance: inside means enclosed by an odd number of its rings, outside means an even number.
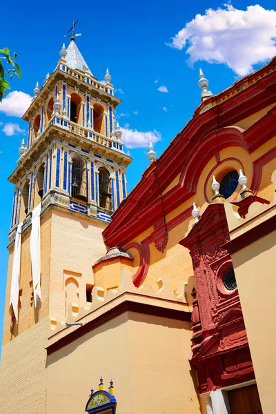
[[[231,414],[262,414],[256,384],[228,391]]]

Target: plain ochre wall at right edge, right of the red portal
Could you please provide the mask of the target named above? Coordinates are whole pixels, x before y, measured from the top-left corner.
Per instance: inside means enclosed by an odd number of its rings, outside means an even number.
[[[275,411],[276,232],[232,255],[263,413]]]

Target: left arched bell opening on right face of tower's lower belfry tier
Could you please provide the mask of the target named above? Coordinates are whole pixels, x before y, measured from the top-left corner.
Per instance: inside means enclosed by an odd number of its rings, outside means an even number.
[[[86,161],[81,157],[72,159],[72,197],[87,201],[86,183]]]

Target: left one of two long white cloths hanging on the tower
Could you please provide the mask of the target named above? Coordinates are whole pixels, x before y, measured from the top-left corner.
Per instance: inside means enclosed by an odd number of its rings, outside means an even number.
[[[12,263],[12,283],[10,286],[9,313],[10,313],[10,317],[12,317],[12,313],[14,314],[14,317],[17,320],[17,322],[18,322],[22,224],[23,224],[23,221],[21,221],[21,223],[19,223],[19,225],[17,226],[17,234],[15,235],[13,263]]]

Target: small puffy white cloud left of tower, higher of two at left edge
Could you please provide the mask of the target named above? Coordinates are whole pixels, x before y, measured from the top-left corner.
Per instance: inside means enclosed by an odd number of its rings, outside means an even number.
[[[32,97],[28,93],[14,90],[0,102],[0,112],[4,112],[10,117],[22,117],[29,108],[31,101]]]

